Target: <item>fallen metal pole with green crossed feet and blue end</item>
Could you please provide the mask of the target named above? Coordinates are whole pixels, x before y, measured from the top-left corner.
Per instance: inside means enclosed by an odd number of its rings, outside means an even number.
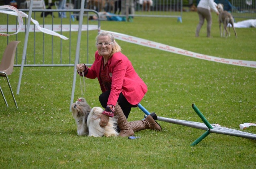
[[[146,114],[150,115],[149,111],[146,110],[140,103],[138,104],[138,107]],[[204,115],[200,112],[200,110],[196,107],[195,104],[192,104],[192,108],[194,111],[198,114],[198,116],[201,118],[201,120],[204,123],[199,123],[199,122],[194,122],[194,121],[186,121],[186,120],[177,120],[177,119],[172,119],[172,118],[164,118],[157,116],[157,120],[159,121],[165,121],[168,123],[173,123],[173,124],[179,124],[183,126],[188,126],[191,128],[197,128],[197,129],[202,129],[206,130],[202,136],[200,136],[198,139],[196,139],[191,146],[197,145],[199,142],[201,142],[205,137],[207,137],[210,133],[217,133],[217,134],[224,134],[228,136],[237,136],[237,137],[243,137],[246,139],[253,139],[256,140],[256,134],[248,133],[248,132],[243,132],[243,131],[238,131],[235,129],[229,129],[225,127],[220,127],[220,126],[212,126],[204,117]]]

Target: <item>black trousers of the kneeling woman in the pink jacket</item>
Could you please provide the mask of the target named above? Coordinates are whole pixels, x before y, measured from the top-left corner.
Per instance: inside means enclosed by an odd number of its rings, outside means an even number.
[[[110,95],[110,90],[106,91],[102,94],[100,94],[99,96],[99,101],[100,104],[102,105],[102,107],[106,108],[107,107],[107,100],[109,99],[109,95]],[[131,112],[131,108],[132,107],[137,107],[137,105],[131,105],[125,98],[125,96],[123,96],[122,92],[120,93],[117,102],[119,103],[120,107],[123,110],[123,113],[125,114],[125,117],[128,119],[128,116]]]

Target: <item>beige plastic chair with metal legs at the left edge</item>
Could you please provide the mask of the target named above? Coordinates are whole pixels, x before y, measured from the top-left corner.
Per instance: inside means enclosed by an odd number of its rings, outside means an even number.
[[[10,84],[10,81],[9,81],[7,75],[11,75],[11,73],[13,72],[14,57],[15,57],[16,48],[17,48],[19,42],[20,41],[11,41],[6,46],[5,51],[3,53],[2,61],[0,63],[0,77],[6,78],[9,88],[10,88],[10,91],[11,91],[11,95],[13,96],[13,101],[14,101],[17,109],[18,109],[18,105],[17,105],[15,97],[13,95],[13,90],[11,89],[11,84]],[[6,99],[3,94],[1,86],[0,86],[0,91],[3,96],[3,99],[5,100],[5,104],[8,107],[8,104],[6,102]]]

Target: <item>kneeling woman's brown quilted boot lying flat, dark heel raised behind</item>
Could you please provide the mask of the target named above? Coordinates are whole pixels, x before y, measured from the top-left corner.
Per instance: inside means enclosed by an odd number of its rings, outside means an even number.
[[[133,131],[141,131],[145,129],[151,129],[156,131],[162,131],[161,126],[154,120],[152,116],[156,116],[155,113],[151,113],[144,120],[131,121],[131,129]]]

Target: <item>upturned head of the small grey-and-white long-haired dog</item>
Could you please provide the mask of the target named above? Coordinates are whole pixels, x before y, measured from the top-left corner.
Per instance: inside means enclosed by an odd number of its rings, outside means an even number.
[[[72,116],[79,120],[80,118],[83,118],[91,111],[91,107],[89,104],[87,104],[86,100],[81,97],[79,98],[75,103],[71,105],[72,110]]]

